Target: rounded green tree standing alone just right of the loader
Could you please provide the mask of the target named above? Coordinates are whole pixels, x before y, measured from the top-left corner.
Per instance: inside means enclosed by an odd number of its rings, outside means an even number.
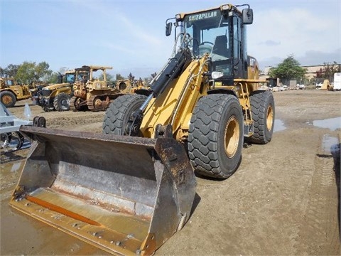
[[[269,70],[271,78],[280,78],[283,82],[288,84],[289,80],[302,80],[307,73],[306,68],[301,68],[300,63],[293,58],[293,55],[288,56],[282,63],[278,64],[276,68]]]

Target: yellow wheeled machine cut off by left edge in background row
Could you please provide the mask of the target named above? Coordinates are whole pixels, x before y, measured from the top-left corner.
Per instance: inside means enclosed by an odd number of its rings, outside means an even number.
[[[31,97],[29,85],[18,85],[14,78],[0,78],[0,101],[5,107],[14,107],[19,100]]]

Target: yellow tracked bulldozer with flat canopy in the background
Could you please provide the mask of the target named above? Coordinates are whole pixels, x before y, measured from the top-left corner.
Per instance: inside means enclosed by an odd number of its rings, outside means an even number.
[[[77,72],[86,71],[89,75],[73,85],[70,110],[94,112],[107,110],[110,102],[122,95],[117,87],[112,88],[108,85],[108,69],[112,67],[84,65],[82,68],[76,68]]]

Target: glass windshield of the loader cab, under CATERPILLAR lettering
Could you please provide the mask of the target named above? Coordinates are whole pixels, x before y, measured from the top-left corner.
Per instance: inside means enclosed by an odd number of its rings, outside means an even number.
[[[229,40],[229,17],[220,10],[188,14],[183,20],[185,33],[193,38],[192,51],[195,56],[209,53],[212,71],[232,75],[232,51]]]

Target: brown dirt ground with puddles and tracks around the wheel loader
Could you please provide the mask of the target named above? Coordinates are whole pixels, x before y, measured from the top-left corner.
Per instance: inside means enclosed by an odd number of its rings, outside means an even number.
[[[340,255],[341,92],[274,92],[275,132],[224,181],[197,177],[193,214],[155,255]],[[9,109],[23,117],[18,102]],[[47,127],[102,132],[104,112],[43,112]],[[0,255],[107,255],[8,206],[29,149],[1,151]]]

